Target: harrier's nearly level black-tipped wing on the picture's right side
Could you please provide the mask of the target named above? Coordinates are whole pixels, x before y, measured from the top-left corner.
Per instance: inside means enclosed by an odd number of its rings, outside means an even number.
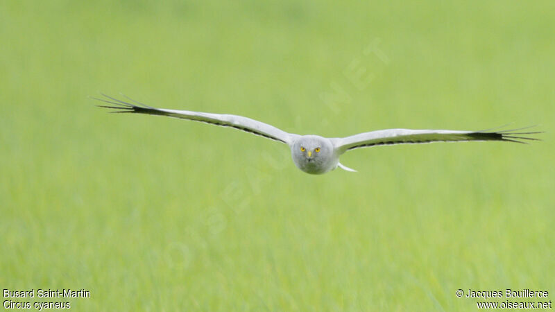
[[[527,127],[530,128],[530,127]],[[522,135],[536,135],[541,132],[519,132],[515,129],[505,131],[456,131],[456,130],[411,130],[411,129],[388,129],[372,132],[359,133],[350,137],[332,139],[339,153],[355,148],[364,148],[378,145],[393,144],[423,144],[439,141],[511,141],[525,143],[524,140],[538,140]]]

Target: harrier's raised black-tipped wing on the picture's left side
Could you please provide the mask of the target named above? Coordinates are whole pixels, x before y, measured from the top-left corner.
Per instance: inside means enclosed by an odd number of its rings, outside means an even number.
[[[284,144],[289,144],[295,135],[287,133],[283,130],[275,128],[273,125],[268,125],[261,121],[256,121],[244,116],[229,115],[229,114],[211,114],[205,112],[191,112],[187,110],[166,110],[163,108],[155,108],[148,105],[144,105],[137,101],[128,98],[129,103],[126,101],[118,100],[117,98],[112,98],[102,94],[105,98],[94,98],[95,100],[108,103],[108,105],[99,105],[100,107],[112,108],[114,112],[118,113],[138,113],[138,114],[150,114],[158,116],[169,116],[179,119],[188,119],[192,121],[201,121],[203,123],[212,123],[213,125],[221,125],[222,127],[231,127],[245,132],[253,133],[253,135],[259,135],[261,137],[266,137],[268,139],[273,139],[275,141],[280,141]]]

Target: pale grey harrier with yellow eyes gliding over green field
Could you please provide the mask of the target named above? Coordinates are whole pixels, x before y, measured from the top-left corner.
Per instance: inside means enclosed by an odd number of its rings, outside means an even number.
[[[346,171],[355,171],[343,166],[339,157],[348,150],[366,148],[380,145],[393,144],[424,144],[438,141],[509,141],[525,143],[525,141],[538,141],[533,137],[523,135],[536,135],[540,131],[524,131],[527,128],[504,131],[457,131],[457,130],[411,130],[411,129],[387,129],[371,132],[363,132],[350,137],[321,137],[319,135],[296,135],[288,133],[273,125],[256,121],[244,116],[230,114],[212,114],[206,112],[191,112],[187,110],[167,110],[155,108],[139,103],[125,96],[128,101],[102,94],[103,98],[94,98],[108,105],[99,105],[114,109],[116,113],[149,114],[157,116],[169,116],[179,119],[200,121],[230,127],[253,135],[259,135],[267,139],[287,144],[291,149],[291,157],[295,165],[305,173],[323,174],[334,170],[339,166]]]

